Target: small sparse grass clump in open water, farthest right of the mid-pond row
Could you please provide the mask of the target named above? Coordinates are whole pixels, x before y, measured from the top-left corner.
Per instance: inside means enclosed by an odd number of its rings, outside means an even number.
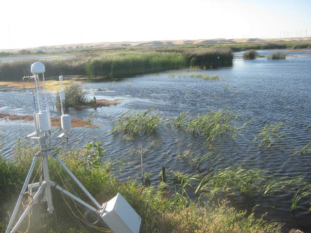
[[[253,143],[256,143],[257,139],[261,138],[259,147],[266,146],[269,148],[274,142],[278,141],[284,133],[277,133],[278,130],[285,125],[287,122],[273,122],[268,123],[262,130],[255,136]]]

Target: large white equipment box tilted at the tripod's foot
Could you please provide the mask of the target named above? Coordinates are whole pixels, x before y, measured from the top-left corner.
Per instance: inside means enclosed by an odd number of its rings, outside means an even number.
[[[107,202],[101,217],[114,233],[139,233],[141,218],[120,193]]]

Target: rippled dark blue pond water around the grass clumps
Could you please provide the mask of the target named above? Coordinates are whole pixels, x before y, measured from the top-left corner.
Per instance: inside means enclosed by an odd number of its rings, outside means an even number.
[[[259,57],[255,60],[242,60],[243,52],[235,53],[232,67],[220,67],[213,70],[186,69],[170,70],[159,73],[139,75],[115,81],[84,83],[89,90],[89,98],[98,100],[122,99],[121,103],[111,107],[97,108],[93,114],[93,124],[98,128],[72,128],[69,133],[69,145],[62,148],[82,148],[87,143],[99,141],[106,150],[105,159],[123,160],[120,178],[140,176],[140,159],[133,151],[144,150],[144,171],[151,173],[151,182],[159,182],[162,166],[169,170],[180,170],[190,175],[206,173],[205,165],[198,170],[183,159],[176,158],[179,152],[190,151],[194,156],[209,151],[221,155],[221,166],[234,166],[244,163],[247,168],[268,170],[273,178],[303,177],[311,182],[311,155],[296,154],[294,148],[302,148],[311,141],[311,50],[285,51],[286,59],[269,60]],[[259,50],[259,55],[268,55],[271,51]],[[190,77],[191,74],[219,75],[219,80],[204,80]],[[66,78],[66,77],[65,77]],[[49,93],[55,101],[53,93]],[[29,90],[22,92],[12,89],[0,92],[0,113],[17,115],[33,114],[33,99]],[[202,136],[170,128],[161,124],[155,131],[137,136],[131,140],[122,139],[123,133],[112,133],[113,121],[131,110],[134,112],[154,108],[163,119],[176,117],[182,112],[190,115],[225,109],[239,117],[232,120],[233,126],[241,127],[237,137],[217,137],[212,148],[204,147],[206,139]],[[93,109],[69,109],[74,118],[87,120]],[[52,116],[59,116],[51,109]],[[271,122],[285,122],[280,128],[283,133],[270,147],[259,147],[253,143],[255,136]],[[55,127],[54,132],[58,131]],[[12,159],[12,152],[18,138],[33,132],[32,121],[0,120],[2,157]],[[55,133],[58,135],[59,131]],[[54,137],[55,138],[55,137]],[[52,143],[56,143],[55,139]],[[27,141],[28,143],[28,141]],[[30,142],[34,143],[35,142]],[[151,146],[152,144],[152,146]],[[178,157],[178,156],[177,156]],[[205,161],[208,164],[208,161]],[[117,172],[118,168],[116,168]],[[293,192],[277,192],[272,197],[254,195],[251,200],[236,199],[238,209],[251,210],[256,204],[256,216],[268,220],[284,222],[283,231],[296,228],[310,232],[311,215],[308,212],[310,199],[297,205],[295,215],[291,210]]]

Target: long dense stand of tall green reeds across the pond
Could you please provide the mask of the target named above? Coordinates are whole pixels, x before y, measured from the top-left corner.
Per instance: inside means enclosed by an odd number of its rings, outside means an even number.
[[[0,80],[20,80],[30,74],[30,66],[35,61],[0,63]],[[109,78],[187,67],[232,66],[232,61],[233,54],[229,49],[115,51],[80,54],[69,59],[41,60],[46,67],[46,77],[89,75]]]

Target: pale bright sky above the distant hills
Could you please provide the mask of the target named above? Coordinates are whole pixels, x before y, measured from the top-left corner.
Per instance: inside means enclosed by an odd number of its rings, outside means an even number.
[[[0,49],[311,36],[311,0],[1,0],[0,9]]]

